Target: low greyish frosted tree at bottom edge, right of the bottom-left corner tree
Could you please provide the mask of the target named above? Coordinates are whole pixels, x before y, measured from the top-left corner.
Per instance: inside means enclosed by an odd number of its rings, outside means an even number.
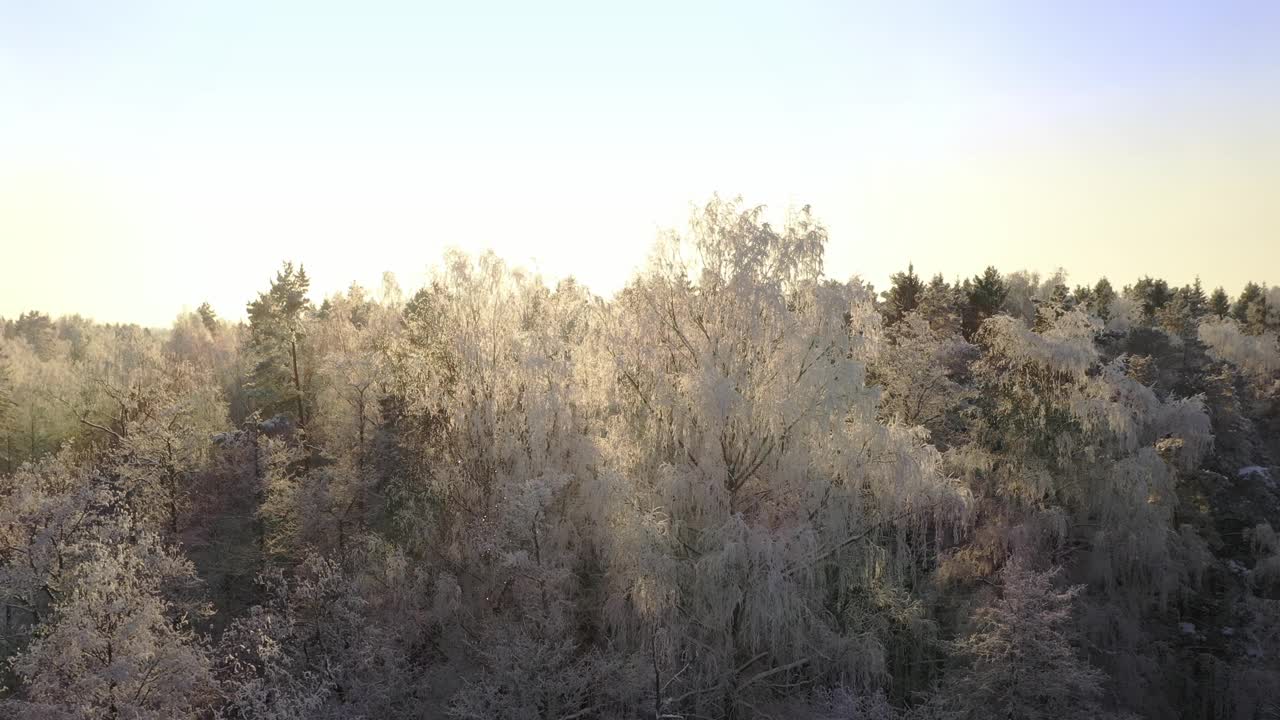
[[[262,575],[266,602],[223,634],[218,674],[228,717],[420,717],[431,678],[411,655],[424,638],[430,587],[370,539],[339,565],[308,556]]]

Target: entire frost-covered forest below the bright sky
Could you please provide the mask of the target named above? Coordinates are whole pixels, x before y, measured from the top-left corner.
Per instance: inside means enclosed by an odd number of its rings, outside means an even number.
[[[0,320],[0,717],[1280,719],[1280,287],[765,218]]]

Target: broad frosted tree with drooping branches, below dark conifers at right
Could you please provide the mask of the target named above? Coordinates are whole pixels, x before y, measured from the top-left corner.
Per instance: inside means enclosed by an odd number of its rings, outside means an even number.
[[[975,368],[983,460],[972,469],[980,496],[1012,520],[988,548],[996,566],[1011,551],[1079,543],[1091,579],[1144,603],[1180,587],[1174,482],[1208,451],[1210,420],[1199,398],[1162,401],[1129,377],[1128,357],[1100,365],[1097,332],[1079,311],[1044,333],[1011,318],[984,324]],[[1068,518],[1091,532],[1073,533]]]

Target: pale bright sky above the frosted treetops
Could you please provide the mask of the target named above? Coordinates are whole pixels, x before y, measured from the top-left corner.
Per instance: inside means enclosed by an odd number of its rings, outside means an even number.
[[[0,0],[0,316],[447,247],[608,295],[714,192],[881,288],[1280,282],[1280,3]]]

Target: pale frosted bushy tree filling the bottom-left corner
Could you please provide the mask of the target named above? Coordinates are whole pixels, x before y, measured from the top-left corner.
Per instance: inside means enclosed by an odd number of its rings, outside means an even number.
[[[189,607],[165,597],[195,582],[191,564],[155,536],[111,530],[76,547],[51,614],[13,660],[18,697],[0,701],[10,716],[207,716],[211,659],[191,630]]]

